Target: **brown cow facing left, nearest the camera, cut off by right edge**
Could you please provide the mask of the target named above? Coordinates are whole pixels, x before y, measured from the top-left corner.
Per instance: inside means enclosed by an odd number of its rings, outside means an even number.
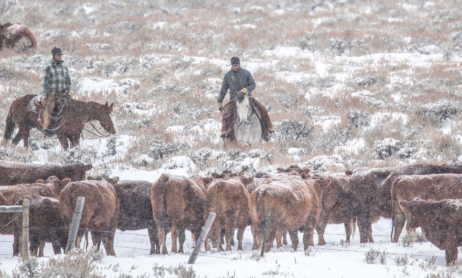
[[[446,250],[446,266],[457,260],[457,247],[462,246],[462,199],[441,201],[403,200],[400,206],[409,216],[409,227],[421,227],[427,240]]]

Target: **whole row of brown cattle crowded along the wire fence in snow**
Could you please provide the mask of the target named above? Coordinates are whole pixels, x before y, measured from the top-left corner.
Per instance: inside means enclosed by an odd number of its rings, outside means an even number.
[[[231,250],[237,229],[237,250],[242,250],[243,233],[251,225],[253,248],[265,252],[286,243],[289,234],[294,250],[298,231],[303,232],[304,249],[313,245],[313,233],[324,245],[328,223],[344,223],[346,242],[356,227],[360,242],[373,242],[371,223],[380,216],[391,218],[392,242],[397,242],[407,220],[407,229],[421,227],[427,240],[446,250],[446,262],[457,259],[462,246],[462,163],[358,168],[342,176],[310,175],[310,170],[292,165],[278,173],[257,172],[253,176],[224,171],[208,177],[161,174],[153,184],[88,177],[91,165],[37,165],[0,161],[0,205],[30,200],[30,251],[43,255],[45,242],[55,253],[66,246],[77,197],[85,197],[78,236],[91,231],[92,241],[104,243],[115,255],[116,229],[148,230],[151,254],[167,253],[166,234],[171,232],[172,252],[183,252],[185,230],[193,238],[209,212],[216,217],[210,242]],[[461,198],[461,199],[458,199]],[[267,213],[271,211],[267,243],[262,247]],[[22,221],[12,213],[0,214],[1,234],[13,234],[13,255],[19,252]],[[393,235],[393,230],[395,231]],[[281,239],[283,240],[281,242]],[[178,240],[179,246],[176,241]],[[210,244],[206,242],[206,250]]]

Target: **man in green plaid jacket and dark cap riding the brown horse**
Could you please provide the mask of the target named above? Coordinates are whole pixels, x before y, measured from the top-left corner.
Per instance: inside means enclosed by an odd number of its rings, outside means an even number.
[[[55,109],[55,103],[58,98],[72,99],[72,82],[69,70],[64,61],[61,60],[62,52],[60,48],[51,49],[53,60],[45,67],[43,74],[43,93],[42,93],[42,110],[43,110],[43,130],[45,135],[53,136],[55,133],[52,128],[49,129],[51,113]]]

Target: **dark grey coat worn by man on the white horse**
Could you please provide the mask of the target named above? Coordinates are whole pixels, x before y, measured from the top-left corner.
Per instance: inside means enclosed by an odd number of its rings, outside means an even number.
[[[242,88],[246,88],[249,94],[255,89],[255,80],[252,74],[245,68],[240,68],[238,71],[230,69],[223,78],[217,102],[223,102],[228,89],[230,90],[230,99],[237,98],[237,92]]]

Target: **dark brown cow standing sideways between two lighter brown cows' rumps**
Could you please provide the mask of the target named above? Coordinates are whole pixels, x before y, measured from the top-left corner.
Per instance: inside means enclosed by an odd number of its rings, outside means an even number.
[[[116,178],[118,180],[118,177]],[[157,225],[152,217],[152,183],[143,180],[116,181],[116,178],[100,176],[97,178],[88,177],[87,179],[106,179],[114,185],[120,203],[117,229],[122,231],[147,229],[149,241],[151,242],[151,251],[149,254],[159,254],[160,246]]]

